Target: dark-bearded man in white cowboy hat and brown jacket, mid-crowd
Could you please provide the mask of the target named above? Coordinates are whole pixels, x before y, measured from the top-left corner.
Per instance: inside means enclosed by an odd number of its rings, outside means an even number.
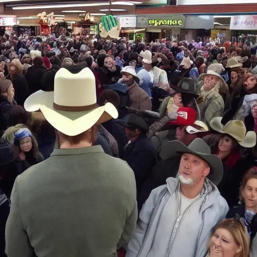
[[[126,66],[120,71],[122,75],[121,83],[126,85],[129,94],[131,107],[138,110],[152,110],[152,102],[145,90],[140,86],[140,78],[138,77],[133,66]]]

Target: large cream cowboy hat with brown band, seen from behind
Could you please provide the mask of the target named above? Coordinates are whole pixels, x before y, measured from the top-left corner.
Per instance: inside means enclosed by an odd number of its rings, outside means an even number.
[[[54,91],[39,90],[29,96],[24,107],[27,111],[41,110],[46,120],[56,130],[76,136],[94,124],[117,118],[117,109],[106,103],[96,103],[95,77],[89,68],[72,74],[65,68],[57,71]]]

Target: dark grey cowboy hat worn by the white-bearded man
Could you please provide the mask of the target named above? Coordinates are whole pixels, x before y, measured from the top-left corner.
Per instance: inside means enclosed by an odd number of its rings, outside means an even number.
[[[182,142],[174,140],[163,144],[160,157],[167,160],[179,157],[184,153],[196,155],[207,162],[210,166],[210,173],[207,178],[214,184],[218,185],[223,177],[223,165],[220,158],[211,154],[210,147],[199,138],[196,138],[188,147]]]

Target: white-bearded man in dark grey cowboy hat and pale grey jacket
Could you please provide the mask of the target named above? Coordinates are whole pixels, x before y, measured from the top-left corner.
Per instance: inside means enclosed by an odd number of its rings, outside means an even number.
[[[181,156],[177,178],[150,194],[126,257],[205,257],[211,229],[228,211],[215,186],[223,175],[220,158],[201,139],[188,147],[168,144],[174,156]]]

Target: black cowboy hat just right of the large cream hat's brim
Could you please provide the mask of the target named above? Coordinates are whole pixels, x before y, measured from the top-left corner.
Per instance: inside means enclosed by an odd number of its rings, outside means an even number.
[[[145,133],[149,130],[149,126],[146,121],[135,113],[127,114],[122,120],[118,120],[117,123],[121,126],[127,127],[128,129],[140,129]]]

